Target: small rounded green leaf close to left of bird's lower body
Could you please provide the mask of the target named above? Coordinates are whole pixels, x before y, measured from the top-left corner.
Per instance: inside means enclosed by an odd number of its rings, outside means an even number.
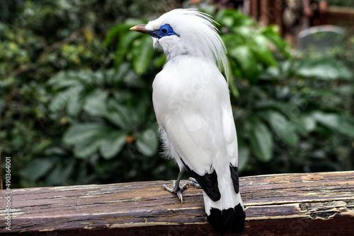
[[[159,139],[154,129],[146,129],[142,134],[137,134],[135,143],[137,150],[148,157],[157,153]]]

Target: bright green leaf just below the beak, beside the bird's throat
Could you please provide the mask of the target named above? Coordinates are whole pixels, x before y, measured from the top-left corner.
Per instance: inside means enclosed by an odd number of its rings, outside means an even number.
[[[141,75],[151,64],[154,55],[151,37],[143,37],[132,49],[132,66],[138,75]]]

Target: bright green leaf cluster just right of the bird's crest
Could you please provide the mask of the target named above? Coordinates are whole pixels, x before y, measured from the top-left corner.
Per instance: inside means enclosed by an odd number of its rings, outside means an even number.
[[[249,17],[243,14],[224,10],[219,11],[215,20],[222,29],[224,41],[230,62],[230,88],[235,97],[238,97],[234,78],[241,78],[255,85],[261,71],[270,66],[278,66],[275,54],[269,47],[273,43],[274,51],[278,50],[287,59],[291,59],[284,40],[278,35],[278,29],[274,25],[260,28]]]

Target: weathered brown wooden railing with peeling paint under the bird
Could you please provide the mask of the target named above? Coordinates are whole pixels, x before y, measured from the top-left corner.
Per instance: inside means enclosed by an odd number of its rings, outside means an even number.
[[[1,190],[0,234],[214,235],[202,191],[183,204],[169,181],[13,189],[11,231]],[[243,177],[242,235],[354,235],[354,171]]]

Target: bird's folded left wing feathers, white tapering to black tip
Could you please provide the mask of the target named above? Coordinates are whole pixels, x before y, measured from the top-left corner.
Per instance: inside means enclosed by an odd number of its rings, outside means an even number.
[[[210,199],[217,201],[221,194],[215,186],[217,172],[213,163],[218,154],[211,136],[212,129],[202,114],[183,113],[166,124],[166,133],[183,165],[197,179]]]

